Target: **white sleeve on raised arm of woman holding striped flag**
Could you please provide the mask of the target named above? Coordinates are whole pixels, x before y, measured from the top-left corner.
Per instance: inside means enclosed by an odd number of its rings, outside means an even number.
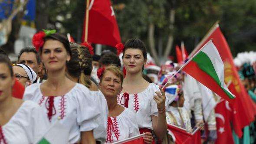
[[[149,94],[151,97],[150,97],[150,100],[151,100],[151,112],[150,112],[150,115],[154,115],[154,116],[158,116],[158,105],[156,103],[156,101],[154,101],[154,95],[156,95],[155,92],[157,91],[160,91],[160,89],[158,88],[158,85],[156,84],[151,84],[151,88],[149,88]]]

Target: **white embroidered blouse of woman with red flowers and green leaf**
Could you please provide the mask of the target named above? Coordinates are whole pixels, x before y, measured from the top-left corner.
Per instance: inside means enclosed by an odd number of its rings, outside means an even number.
[[[48,120],[48,110],[46,108],[48,97],[43,96],[40,85],[41,83],[35,83],[27,87],[23,99],[39,103],[43,108],[44,119]],[[63,101],[65,101],[64,105]],[[59,120],[60,124],[63,124],[69,130],[69,143],[77,143],[80,140],[81,131],[91,131],[98,126],[95,122],[100,114],[98,105],[92,98],[89,89],[82,84],[76,83],[74,88],[64,96],[55,96],[54,106],[56,115],[53,115],[51,123]],[[64,115],[61,113],[61,109],[63,109],[61,106],[64,106]]]

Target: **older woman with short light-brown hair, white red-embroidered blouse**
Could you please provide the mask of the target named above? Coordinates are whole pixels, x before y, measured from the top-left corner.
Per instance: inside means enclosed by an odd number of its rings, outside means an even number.
[[[108,66],[98,72],[98,77],[100,79],[99,88],[107,100],[109,110],[106,142],[113,143],[139,135],[135,113],[117,104],[117,95],[122,90],[123,73],[116,66]],[[151,144],[152,134],[146,133],[144,141]]]

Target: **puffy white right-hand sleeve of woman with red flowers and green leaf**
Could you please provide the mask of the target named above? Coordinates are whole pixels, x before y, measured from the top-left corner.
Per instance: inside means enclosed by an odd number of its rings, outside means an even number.
[[[80,126],[80,131],[92,131],[98,126],[96,119],[100,115],[100,111],[89,89],[84,85],[78,85],[76,92],[77,123]]]

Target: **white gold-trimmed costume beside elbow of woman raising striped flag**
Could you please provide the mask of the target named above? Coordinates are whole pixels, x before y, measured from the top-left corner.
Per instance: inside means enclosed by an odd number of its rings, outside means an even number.
[[[181,116],[179,114],[179,111],[178,109],[180,110],[181,112]],[[186,129],[187,131],[189,132],[192,132],[192,127],[191,127],[191,123],[190,123],[190,118],[189,118],[189,115],[186,111],[186,109],[184,107],[182,108],[175,108],[175,107],[172,107],[172,106],[169,106],[167,109],[166,109],[166,122],[167,124],[173,124],[175,125],[174,123],[174,118],[171,116],[170,114],[170,111],[171,113],[174,115],[176,121],[177,121],[177,124],[176,126],[178,127],[181,127],[181,128],[184,128]],[[184,120],[184,125],[182,125],[182,119],[181,117],[183,118]]]

